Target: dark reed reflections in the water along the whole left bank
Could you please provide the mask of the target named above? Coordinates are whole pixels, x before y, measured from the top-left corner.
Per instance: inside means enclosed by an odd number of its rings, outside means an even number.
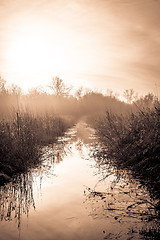
[[[67,146],[62,141],[56,147],[44,147],[41,165],[27,173],[20,174],[11,182],[0,187],[1,221],[14,220],[17,222],[17,227],[21,227],[22,215],[28,217],[30,209],[36,209],[33,194],[34,185],[41,191],[43,178],[55,176],[54,165],[63,161],[67,150]]]

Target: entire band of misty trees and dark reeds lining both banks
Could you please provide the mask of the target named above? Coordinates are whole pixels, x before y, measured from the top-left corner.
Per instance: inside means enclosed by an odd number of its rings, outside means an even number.
[[[92,125],[103,143],[103,160],[129,168],[159,198],[160,103],[153,94],[138,98],[80,88],[70,92],[56,77],[51,93],[32,89],[22,94],[0,78],[0,180],[39,163],[41,147],[52,144],[78,120]]]

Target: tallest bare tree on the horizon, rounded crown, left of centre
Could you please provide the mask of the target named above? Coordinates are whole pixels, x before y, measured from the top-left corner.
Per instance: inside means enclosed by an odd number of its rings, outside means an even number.
[[[57,76],[52,78],[50,88],[54,91],[56,96],[68,96],[71,91],[71,87],[67,87],[63,80]]]

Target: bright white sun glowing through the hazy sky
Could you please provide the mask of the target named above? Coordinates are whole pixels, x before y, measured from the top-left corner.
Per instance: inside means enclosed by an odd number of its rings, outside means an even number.
[[[17,38],[12,43],[10,57],[14,67],[23,73],[65,68],[60,46],[41,33]]]

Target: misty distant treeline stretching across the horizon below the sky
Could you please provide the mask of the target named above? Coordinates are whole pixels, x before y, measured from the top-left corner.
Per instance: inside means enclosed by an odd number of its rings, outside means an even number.
[[[15,112],[30,113],[34,116],[61,115],[70,118],[91,118],[101,115],[106,110],[118,114],[128,114],[140,109],[152,108],[157,98],[149,93],[139,97],[133,89],[125,90],[123,96],[125,102],[120,101],[117,93],[108,90],[106,94],[79,88],[75,94],[71,88],[56,77],[53,78],[50,92],[43,89],[31,89],[23,94],[21,89],[7,83],[0,78],[0,119],[11,119]]]

